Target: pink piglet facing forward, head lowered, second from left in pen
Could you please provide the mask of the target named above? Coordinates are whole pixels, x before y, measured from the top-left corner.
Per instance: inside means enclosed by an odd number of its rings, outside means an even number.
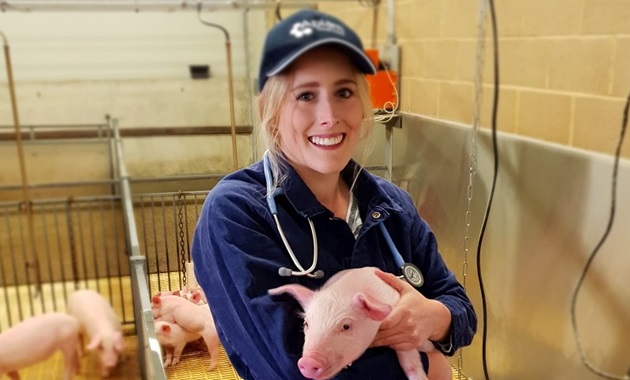
[[[89,339],[86,349],[98,353],[101,376],[109,376],[125,348],[122,325],[112,305],[96,291],[77,290],[68,297],[67,312],[79,321],[81,335]]]

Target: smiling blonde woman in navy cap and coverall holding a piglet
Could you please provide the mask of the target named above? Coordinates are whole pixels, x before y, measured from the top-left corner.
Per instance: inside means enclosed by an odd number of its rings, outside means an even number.
[[[406,379],[391,348],[417,349],[427,339],[438,348],[422,354],[429,377],[450,378],[444,355],[473,338],[472,304],[410,196],[352,160],[371,128],[365,74],[374,72],[356,34],[323,13],[297,12],[265,40],[257,111],[268,161],[226,176],[210,192],[192,248],[221,343],[244,379],[304,378],[296,364],[304,342],[299,305],[272,299],[268,289],[316,289],[355,267],[400,274],[379,224],[424,285],[418,291],[380,274],[401,300],[372,348],[335,378]],[[268,202],[274,194],[275,204]]]

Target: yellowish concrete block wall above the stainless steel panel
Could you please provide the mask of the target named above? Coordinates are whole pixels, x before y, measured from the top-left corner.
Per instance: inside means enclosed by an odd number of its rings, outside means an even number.
[[[321,2],[382,46],[387,1],[374,12]],[[472,124],[479,1],[396,0],[401,49],[400,110]],[[499,36],[498,129],[579,149],[614,154],[630,92],[630,2],[495,0]],[[491,126],[492,30],[486,20],[480,125]],[[375,37],[375,38],[374,38]],[[630,157],[630,144],[622,155]]]

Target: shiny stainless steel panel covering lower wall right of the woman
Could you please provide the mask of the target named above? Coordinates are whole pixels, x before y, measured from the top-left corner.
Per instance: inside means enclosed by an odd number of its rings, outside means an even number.
[[[406,115],[394,132],[392,180],[409,191],[463,278],[472,128]],[[627,143],[627,142],[626,142]],[[613,158],[500,134],[499,176],[483,245],[487,366],[491,379],[599,379],[581,362],[571,299],[611,209]],[[612,152],[611,152],[612,153]],[[489,131],[478,138],[467,291],[480,325],[463,369],[483,378],[477,242],[493,172]],[[599,370],[630,367],[630,162],[619,169],[613,229],[579,293],[581,346]],[[456,363],[456,360],[453,360]]]

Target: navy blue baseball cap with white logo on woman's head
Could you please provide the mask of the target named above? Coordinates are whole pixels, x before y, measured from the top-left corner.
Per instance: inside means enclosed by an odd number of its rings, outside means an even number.
[[[372,60],[363,51],[361,39],[352,29],[328,14],[303,9],[280,21],[267,34],[258,90],[262,91],[267,78],[282,72],[302,54],[328,44],[344,48],[359,71],[376,73]]]

